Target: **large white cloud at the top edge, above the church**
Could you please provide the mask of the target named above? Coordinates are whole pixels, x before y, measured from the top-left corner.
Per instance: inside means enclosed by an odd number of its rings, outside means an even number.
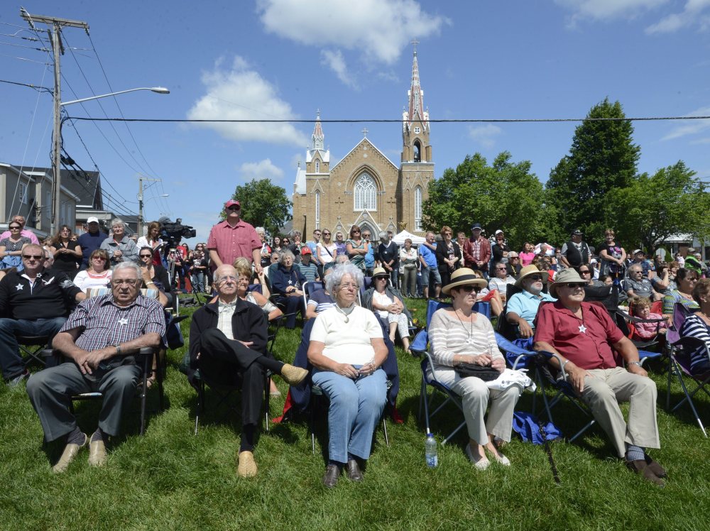
[[[350,86],[354,77],[340,49],[391,65],[413,38],[436,35],[450,23],[422,11],[416,0],[258,0],[256,11],[266,31],[320,48],[324,65]]]

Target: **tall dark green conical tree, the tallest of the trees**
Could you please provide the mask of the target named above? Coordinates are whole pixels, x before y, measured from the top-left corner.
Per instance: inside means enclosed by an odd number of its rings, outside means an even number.
[[[589,241],[601,241],[607,195],[632,184],[640,148],[632,141],[630,121],[594,120],[626,118],[619,102],[606,98],[586,118],[574,131],[569,155],[550,173],[547,199],[564,234],[581,229]]]

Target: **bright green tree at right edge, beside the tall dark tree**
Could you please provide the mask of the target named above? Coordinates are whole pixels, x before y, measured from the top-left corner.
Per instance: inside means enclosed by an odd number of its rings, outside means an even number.
[[[643,173],[630,186],[608,197],[607,219],[628,248],[640,245],[649,253],[668,236],[710,233],[710,197],[704,184],[682,160],[654,175]]]

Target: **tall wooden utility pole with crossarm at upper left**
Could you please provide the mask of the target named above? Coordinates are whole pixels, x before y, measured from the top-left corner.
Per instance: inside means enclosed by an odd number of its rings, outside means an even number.
[[[70,26],[72,28],[84,28],[84,31],[89,34],[89,24],[82,21],[71,21],[67,18],[58,18],[56,16],[31,15],[24,8],[20,8],[20,16],[24,18],[33,30],[36,30],[34,23],[41,22],[50,26],[47,33],[52,39],[52,50],[54,52],[54,130],[52,138],[52,225],[51,234],[56,234],[58,227],[61,224],[60,220],[60,197],[62,186],[62,92],[60,86],[60,54],[64,54],[64,45],[62,45],[62,26]]]

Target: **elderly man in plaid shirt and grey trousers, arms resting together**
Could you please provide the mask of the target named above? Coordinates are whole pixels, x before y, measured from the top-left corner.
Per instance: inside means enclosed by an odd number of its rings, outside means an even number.
[[[53,471],[65,471],[87,444],[89,464],[106,464],[106,439],[119,434],[121,416],[141,376],[133,354],[160,346],[164,334],[163,307],[141,295],[141,270],[133,262],[116,265],[109,295],[85,300],[70,315],[53,341],[69,361],[33,374],[27,383],[45,439],[67,440]],[[89,438],[69,410],[70,395],[96,391],[104,402],[99,427]]]

